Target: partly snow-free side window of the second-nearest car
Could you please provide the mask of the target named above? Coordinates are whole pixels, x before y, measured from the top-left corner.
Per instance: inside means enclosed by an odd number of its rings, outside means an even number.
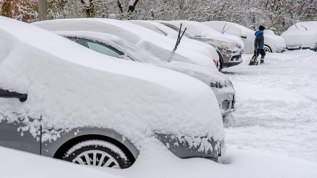
[[[107,46],[103,43],[100,43],[98,41],[93,41],[93,40],[89,40],[89,39],[85,39],[85,38],[79,38],[79,37],[67,37],[69,40],[74,41],[78,44],[81,44],[84,47],[87,47],[89,49],[92,49],[98,53],[101,54],[106,54],[108,56],[113,56],[113,57],[118,57],[122,54],[121,52],[119,52],[118,50],[115,50],[113,48],[111,48],[110,46]]]

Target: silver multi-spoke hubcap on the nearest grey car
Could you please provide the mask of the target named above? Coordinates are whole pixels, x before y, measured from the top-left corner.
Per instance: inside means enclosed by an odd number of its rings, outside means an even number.
[[[119,163],[113,156],[100,150],[88,150],[82,152],[73,159],[73,163],[120,169]]]

